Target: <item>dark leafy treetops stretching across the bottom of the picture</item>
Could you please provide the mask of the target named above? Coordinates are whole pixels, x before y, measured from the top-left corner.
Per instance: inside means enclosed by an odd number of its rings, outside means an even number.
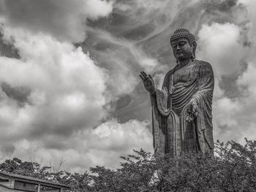
[[[119,169],[104,166],[83,174],[52,171],[50,166],[18,158],[0,164],[5,172],[53,180],[85,191],[256,191],[256,141],[215,144],[215,155],[189,153],[154,158],[143,150],[121,157]]]

